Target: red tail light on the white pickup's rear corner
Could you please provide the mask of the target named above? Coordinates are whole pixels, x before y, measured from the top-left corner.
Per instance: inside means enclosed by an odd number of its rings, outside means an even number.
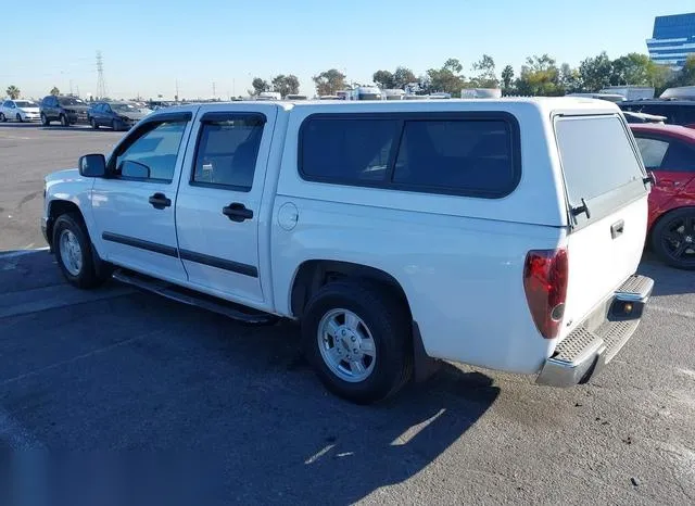
[[[555,339],[565,316],[569,263],[567,250],[530,251],[523,266],[523,290],[535,327]]]

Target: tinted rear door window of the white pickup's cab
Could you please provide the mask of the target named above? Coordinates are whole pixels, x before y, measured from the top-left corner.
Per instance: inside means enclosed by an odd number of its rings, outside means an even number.
[[[251,190],[264,123],[257,114],[204,121],[191,185]]]

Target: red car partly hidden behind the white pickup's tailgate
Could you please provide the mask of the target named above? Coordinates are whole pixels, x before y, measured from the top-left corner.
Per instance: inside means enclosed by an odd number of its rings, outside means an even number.
[[[631,124],[644,165],[654,172],[649,241],[667,264],[695,269],[695,129]]]

